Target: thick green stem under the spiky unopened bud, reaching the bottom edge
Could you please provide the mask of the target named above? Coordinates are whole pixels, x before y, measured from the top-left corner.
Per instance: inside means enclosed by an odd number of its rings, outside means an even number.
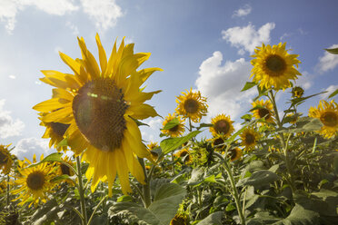
[[[230,147],[230,145],[227,147],[227,149],[229,147]],[[226,149],[225,152],[227,152],[227,149]],[[239,195],[238,195],[238,191],[237,191],[236,184],[235,184],[235,181],[234,181],[233,171],[231,170],[231,166],[229,164],[229,161],[225,160],[223,158],[223,156],[220,153],[218,153],[218,152],[214,152],[214,154],[218,158],[220,158],[220,160],[223,162],[222,166],[224,167],[226,173],[228,174],[228,178],[230,180],[230,184],[231,184],[231,187],[233,189],[234,203],[236,204],[236,209],[238,211],[238,215],[240,217],[241,224],[245,225],[246,223],[245,223],[244,213],[243,213],[243,210],[242,210],[241,201],[240,201],[240,198],[239,198]]]

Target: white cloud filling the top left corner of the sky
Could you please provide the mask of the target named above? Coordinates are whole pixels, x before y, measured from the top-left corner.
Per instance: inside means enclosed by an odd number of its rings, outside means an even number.
[[[5,28],[9,34],[15,29],[15,17],[26,6],[35,6],[50,15],[65,15],[76,11],[78,6],[74,0],[1,0],[0,21],[5,22]]]

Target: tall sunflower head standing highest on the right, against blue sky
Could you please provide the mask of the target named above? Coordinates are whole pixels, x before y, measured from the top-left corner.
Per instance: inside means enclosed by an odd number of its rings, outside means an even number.
[[[285,89],[292,84],[290,80],[297,79],[301,75],[294,66],[298,67],[301,62],[297,59],[298,54],[288,54],[285,50],[285,43],[273,45],[263,44],[254,50],[254,65],[251,76],[254,76],[254,83],[259,83],[261,88],[272,88],[275,90]]]

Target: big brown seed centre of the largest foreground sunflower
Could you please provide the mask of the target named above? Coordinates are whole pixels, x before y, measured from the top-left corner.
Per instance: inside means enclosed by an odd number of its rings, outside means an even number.
[[[77,127],[88,142],[102,151],[121,146],[127,108],[122,89],[106,78],[85,83],[73,101]]]

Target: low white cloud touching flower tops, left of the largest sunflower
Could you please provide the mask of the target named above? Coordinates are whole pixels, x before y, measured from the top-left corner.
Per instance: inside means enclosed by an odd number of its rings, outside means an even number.
[[[32,161],[33,155],[36,155],[36,160],[40,160],[41,154],[47,156],[55,150],[48,148],[48,140],[45,139],[36,139],[36,138],[25,138],[21,139],[16,143],[13,153],[20,159],[23,160],[27,158]]]

